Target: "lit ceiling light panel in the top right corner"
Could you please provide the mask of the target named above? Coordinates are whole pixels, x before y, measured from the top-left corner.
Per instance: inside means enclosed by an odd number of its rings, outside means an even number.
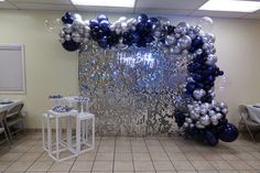
[[[204,3],[198,10],[253,12],[258,9],[260,9],[259,1],[209,0]]]

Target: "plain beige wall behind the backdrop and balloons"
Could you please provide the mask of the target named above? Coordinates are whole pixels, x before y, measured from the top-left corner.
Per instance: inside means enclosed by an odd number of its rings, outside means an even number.
[[[0,95],[19,98],[25,102],[26,126],[40,128],[41,113],[52,105],[50,94],[76,95],[77,53],[64,51],[58,36],[45,30],[46,19],[59,18],[63,12],[6,11],[0,10],[0,44],[25,45],[26,94]],[[96,14],[85,14],[88,19]],[[109,15],[112,19],[117,15]],[[119,15],[118,15],[119,17]],[[173,23],[198,19],[171,17]],[[225,71],[231,85],[217,95],[228,102],[229,119],[238,121],[240,104],[260,102],[260,21],[214,19],[213,33],[217,37],[218,65]]]

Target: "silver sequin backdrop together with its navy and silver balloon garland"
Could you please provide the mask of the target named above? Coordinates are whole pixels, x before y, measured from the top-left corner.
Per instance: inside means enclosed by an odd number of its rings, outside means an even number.
[[[83,21],[67,12],[62,21],[59,42],[79,51],[80,94],[94,101],[100,134],[172,133],[175,120],[186,138],[210,145],[236,140],[227,105],[214,99],[224,72],[213,34],[147,14],[110,23],[104,14]]]

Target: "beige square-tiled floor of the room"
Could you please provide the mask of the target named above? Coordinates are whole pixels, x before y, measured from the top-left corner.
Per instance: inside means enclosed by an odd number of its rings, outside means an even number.
[[[181,137],[100,137],[96,149],[57,163],[40,133],[19,136],[11,150],[0,145],[4,173],[260,173],[260,144],[239,139],[216,148]]]

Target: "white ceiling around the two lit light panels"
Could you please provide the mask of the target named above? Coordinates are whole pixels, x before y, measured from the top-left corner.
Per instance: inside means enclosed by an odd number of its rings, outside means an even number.
[[[73,6],[71,0],[6,0],[0,2],[0,9],[17,10],[58,10],[58,11],[91,11],[91,12],[128,12],[156,13],[175,15],[207,15],[217,18],[257,19],[260,20],[260,10],[253,13],[201,11],[198,7],[207,0],[137,0],[133,9],[80,7]],[[260,0],[254,0],[260,1]],[[224,4],[225,6],[225,4]]]

